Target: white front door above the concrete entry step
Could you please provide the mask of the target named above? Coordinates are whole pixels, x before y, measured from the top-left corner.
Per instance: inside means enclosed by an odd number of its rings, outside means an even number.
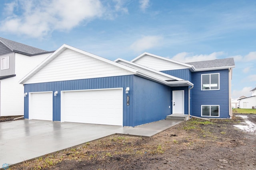
[[[172,91],[172,114],[184,114],[184,90]]]

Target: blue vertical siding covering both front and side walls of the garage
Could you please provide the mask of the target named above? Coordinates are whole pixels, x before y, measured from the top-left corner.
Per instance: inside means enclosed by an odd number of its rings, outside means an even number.
[[[126,87],[130,87],[128,94],[125,93]],[[123,88],[124,126],[151,123],[170,114],[171,88],[135,75],[25,84],[24,92],[58,91],[58,95],[53,96],[53,121],[60,121],[61,91],[102,88]],[[127,96],[130,98],[129,106]],[[28,119],[29,95],[24,100],[24,117]]]

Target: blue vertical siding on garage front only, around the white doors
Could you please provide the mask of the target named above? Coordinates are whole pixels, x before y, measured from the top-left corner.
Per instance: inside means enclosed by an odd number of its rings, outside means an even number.
[[[134,75],[129,76],[113,76],[104,78],[90,78],[82,80],[68,80],[59,82],[45,82],[36,84],[24,84],[24,92],[47,92],[58,91],[57,96],[53,96],[53,121],[60,121],[60,96],[63,90],[86,90],[86,89],[101,89],[101,88],[123,88],[123,125],[130,126],[131,114],[130,109],[126,105],[126,87],[130,87],[130,92],[133,89]],[[24,117],[28,119],[28,101],[29,95],[24,97]]]

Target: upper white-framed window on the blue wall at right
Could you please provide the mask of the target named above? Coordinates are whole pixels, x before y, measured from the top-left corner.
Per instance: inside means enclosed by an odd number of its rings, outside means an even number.
[[[202,74],[202,90],[220,90],[220,73]]]

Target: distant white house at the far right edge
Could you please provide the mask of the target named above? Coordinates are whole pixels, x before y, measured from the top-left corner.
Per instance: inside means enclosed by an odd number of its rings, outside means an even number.
[[[252,96],[248,98],[239,99],[239,108],[241,109],[255,109],[256,108],[256,88],[250,90]]]

